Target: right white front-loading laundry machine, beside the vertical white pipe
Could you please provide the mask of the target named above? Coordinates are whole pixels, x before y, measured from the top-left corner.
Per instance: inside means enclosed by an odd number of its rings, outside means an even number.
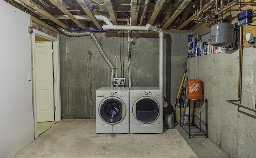
[[[163,132],[163,96],[158,87],[130,88],[130,133]]]

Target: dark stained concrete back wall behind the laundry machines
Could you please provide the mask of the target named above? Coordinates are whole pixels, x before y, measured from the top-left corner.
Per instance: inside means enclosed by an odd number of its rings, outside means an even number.
[[[182,65],[186,65],[188,34],[191,33],[164,34],[164,95],[169,105],[176,99],[184,74]],[[130,36],[135,42],[131,45],[133,86],[158,87],[159,35],[133,33]],[[96,37],[112,65],[117,67],[117,77],[121,77],[120,33],[96,34]],[[127,45],[124,38],[124,77],[128,86]],[[110,87],[111,71],[89,36],[60,34],[60,73],[62,119],[95,119],[95,91]],[[172,108],[167,109],[170,112]]]

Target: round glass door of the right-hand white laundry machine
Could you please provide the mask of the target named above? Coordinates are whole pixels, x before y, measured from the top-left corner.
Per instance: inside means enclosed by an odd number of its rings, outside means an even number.
[[[156,99],[152,97],[140,97],[135,101],[132,112],[136,120],[144,124],[150,124],[158,119],[160,106]]]

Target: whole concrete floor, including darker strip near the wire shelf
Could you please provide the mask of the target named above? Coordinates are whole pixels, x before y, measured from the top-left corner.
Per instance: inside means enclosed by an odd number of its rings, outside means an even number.
[[[46,126],[46,124],[51,125],[53,122],[45,122],[44,126]],[[86,129],[89,128],[89,129]],[[85,130],[86,129],[86,130]],[[177,132],[175,132],[177,131]],[[76,133],[78,132],[78,133]],[[102,148],[99,148],[98,150],[102,150],[102,149],[106,149],[109,148],[112,149],[113,148],[113,144],[112,142],[119,142],[118,140],[120,139],[120,142],[125,141],[126,144],[130,144],[130,146],[127,146],[126,148],[129,148],[130,152],[134,152],[135,150],[138,151],[138,148],[143,148],[146,147],[148,145],[150,146],[154,146],[154,144],[152,144],[152,142],[149,142],[147,136],[150,136],[150,139],[152,139],[154,136],[156,136],[156,140],[160,141],[157,144],[157,146],[159,146],[159,144],[161,144],[161,147],[159,148],[159,150],[161,150],[161,152],[163,152],[162,156],[166,156],[168,157],[168,154],[171,154],[172,156],[169,157],[175,157],[174,153],[178,153],[177,157],[191,157],[192,155],[188,156],[188,155],[183,155],[181,156],[180,154],[184,154],[184,151],[193,151],[194,154],[196,156],[198,156],[198,158],[228,158],[228,156],[222,152],[222,150],[220,150],[209,138],[189,138],[188,134],[183,130],[183,128],[181,128],[179,125],[175,126],[174,129],[167,129],[164,128],[164,134],[96,134],[95,133],[95,120],[62,120],[61,122],[58,122],[57,124],[53,125],[49,130],[47,130],[46,132],[44,132],[41,136],[39,136],[35,141],[33,141],[32,143],[30,143],[27,147],[25,147],[24,149],[22,149],[20,152],[18,152],[17,154],[15,154],[13,157],[42,157],[42,156],[47,156],[47,157],[54,157],[54,153],[51,153],[50,151],[48,151],[48,148],[50,148],[52,150],[52,148],[56,148],[56,146],[54,146],[54,144],[51,144],[51,140],[54,140],[54,142],[52,143],[58,143],[58,156],[60,156],[61,154],[65,153],[66,150],[71,150],[72,148],[75,148],[74,144],[81,144],[82,143],[82,137],[83,135],[86,133],[86,138],[85,140],[87,141],[86,144],[89,144],[88,148],[90,147],[90,144],[88,141],[91,140],[88,139],[89,137],[93,138],[93,142],[94,143],[94,148],[95,146],[102,146]],[[54,134],[56,134],[56,136],[54,136]],[[166,135],[167,134],[167,135]],[[91,135],[91,136],[90,136]],[[89,137],[88,137],[89,136]],[[131,137],[132,136],[132,137]],[[177,137],[183,137],[183,140],[168,140],[169,138],[177,138]],[[48,138],[49,137],[49,138]],[[70,140],[62,140],[63,138],[68,137],[70,138]],[[88,138],[87,138],[88,137]],[[103,142],[98,143],[98,145],[95,145],[95,142],[100,140],[98,137],[100,138],[104,138]],[[124,137],[125,140],[122,140]],[[136,137],[136,139],[134,139],[134,137]],[[76,138],[78,138],[77,142],[75,143],[74,140],[76,140]],[[143,138],[143,141],[140,141],[140,144],[138,144],[138,139]],[[162,139],[163,138],[163,139]],[[94,140],[95,139],[95,140]],[[110,139],[110,140],[108,140]],[[62,142],[64,141],[64,142]],[[136,142],[134,144],[134,141]],[[184,142],[186,142],[184,144]],[[128,143],[127,143],[128,142]],[[146,143],[146,146],[142,145],[144,142]],[[68,145],[65,146],[65,144],[67,143],[71,143],[72,146]],[[62,146],[64,144],[64,146]],[[121,143],[122,144],[122,143]],[[189,147],[189,146],[190,147]],[[79,145],[80,146],[80,145]],[[178,148],[178,146],[182,146],[182,148]],[[184,147],[187,146],[187,147]],[[134,148],[135,147],[135,148]],[[77,149],[78,147],[76,147],[76,151],[77,154],[81,151],[78,151],[79,149]],[[83,147],[83,149],[85,149],[87,147]],[[134,148],[134,149],[132,149]],[[63,150],[65,149],[65,150]],[[160,156],[159,151],[158,154],[156,154],[153,150],[154,148],[152,148],[151,150],[147,151],[147,156],[149,156],[148,154],[151,153],[152,155],[150,155],[149,157],[158,157]],[[62,151],[63,150],[63,151]],[[95,150],[95,149],[94,149]],[[170,150],[172,152],[170,152]],[[175,152],[174,152],[175,150]],[[48,152],[46,152],[48,151]],[[56,151],[56,150],[55,150]],[[114,151],[114,150],[113,150]],[[113,152],[112,151],[112,152]],[[46,153],[44,153],[46,152]],[[92,152],[93,153],[93,152]],[[185,152],[186,153],[186,152]],[[89,154],[88,152],[84,153],[84,154]],[[100,156],[100,157],[110,157],[111,156],[111,152],[106,153],[106,151],[104,153],[98,154],[98,155],[90,155],[91,157],[94,156]],[[124,153],[123,153],[124,154]],[[145,153],[140,153],[140,154],[144,154]],[[167,155],[166,155],[167,154]],[[192,157],[194,157],[195,155],[193,155]],[[64,157],[66,155],[64,154]],[[73,155],[75,156],[75,155]],[[79,157],[79,155],[76,155]],[[161,156],[161,157],[162,157]],[[81,155],[80,155],[81,157]],[[123,157],[127,157],[127,155],[123,155]],[[130,154],[128,157],[139,157],[138,155],[136,155],[136,153]],[[140,156],[143,157],[143,156]]]

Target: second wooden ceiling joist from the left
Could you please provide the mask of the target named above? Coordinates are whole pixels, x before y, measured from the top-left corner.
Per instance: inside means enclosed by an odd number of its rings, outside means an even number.
[[[73,22],[75,22],[80,28],[82,29],[86,29],[83,24],[77,20],[68,10],[67,10],[67,4],[66,2],[62,1],[62,0],[49,0],[54,6],[56,6],[57,8],[59,8],[59,10],[61,10],[64,14],[66,14]],[[66,7],[65,7],[66,6]]]

